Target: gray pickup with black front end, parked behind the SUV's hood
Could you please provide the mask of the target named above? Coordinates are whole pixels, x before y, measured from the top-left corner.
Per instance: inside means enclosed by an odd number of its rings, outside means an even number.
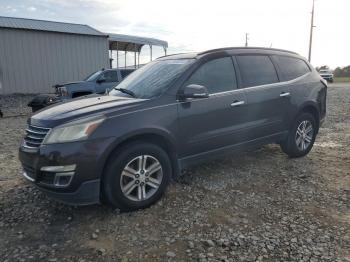
[[[135,69],[101,69],[87,76],[83,81],[55,85],[55,94],[40,94],[29,102],[32,111],[38,111],[49,105],[68,99],[90,94],[103,94],[117,86]]]

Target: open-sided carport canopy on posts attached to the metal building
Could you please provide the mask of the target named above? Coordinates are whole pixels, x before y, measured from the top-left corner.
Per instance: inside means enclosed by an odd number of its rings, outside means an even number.
[[[134,52],[134,60],[135,60],[135,68],[140,65],[140,52],[144,45],[148,45],[150,47],[150,58],[152,61],[152,46],[161,46],[164,50],[164,54],[166,55],[168,42],[149,38],[149,37],[139,37],[139,36],[131,36],[131,35],[122,35],[122,34],[107,34],[108,35],[108,44],[109,50],[117,51],[117,68],[119,67],[119,51],[123,52]],[[136,57],[138,55],[138,62],[136,63]],[[125,55],[125,64],[126,67],[126,55]],[[112,67],[112,60],[111,60]]]

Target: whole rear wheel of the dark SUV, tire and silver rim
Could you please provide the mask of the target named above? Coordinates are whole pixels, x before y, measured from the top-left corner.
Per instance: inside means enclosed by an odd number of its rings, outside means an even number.
[[[281,143],[281,148],[289,157],[307,155],[315,142],[317,135],[315,117],[310,113],[301,113],[294,121],[288,137]]]

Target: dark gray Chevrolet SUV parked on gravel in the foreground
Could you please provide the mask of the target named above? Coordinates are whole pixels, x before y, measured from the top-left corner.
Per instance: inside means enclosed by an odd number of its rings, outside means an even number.
[[[159,58],[107,95],[51,106],[28,120],[23,175],[75,205],[124,210],[157,201],[183,168],[268,143],[312,148],[327,83],[299,55],[224,48]]]

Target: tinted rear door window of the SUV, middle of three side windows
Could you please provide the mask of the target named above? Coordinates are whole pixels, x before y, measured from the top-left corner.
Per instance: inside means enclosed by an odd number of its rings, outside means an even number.
[[[236,56],[243,87],[267,85],[278,82],[275,66],[265,55]]]

